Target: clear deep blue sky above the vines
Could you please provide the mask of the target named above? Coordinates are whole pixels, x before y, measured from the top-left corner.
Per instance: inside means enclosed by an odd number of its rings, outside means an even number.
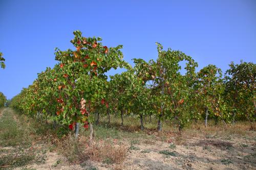
[[[54,48],[73,48],[73,31],[123,45],[124,59],[157,58],[155,42],[181,50],[200,68],[256,61],[256,1],[0,0],[0,91],[8,99],[53,67]],[[112,70],[111,74],[120,72]]]

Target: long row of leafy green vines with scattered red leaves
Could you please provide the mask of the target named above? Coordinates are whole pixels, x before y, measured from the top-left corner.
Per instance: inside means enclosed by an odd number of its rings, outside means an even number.
[[[91,130],[95,117],[137,115],[175,120],[181,130],[191,120],[215,118],[225,124],[234,120],[255,120],[256,65],[231,63],[222,74],[208,65],[196,72],[198,63],[181,51],[163,50],[157,44],[158,58],[148,62],[133,59],[134,67],[123,60],[122,45],[107,47],[101,38],[83,37],[74,32],[75,50],[55,50],[54,68],[46,68],[28,88],[11,102],[11,107],[31,116],[51,118],[79,131],[79,124]],[[185,72],[181,74],[181,62]],[[106,76],[110,69],[126,71]],[[96,116],[95,116],[96,115]]]

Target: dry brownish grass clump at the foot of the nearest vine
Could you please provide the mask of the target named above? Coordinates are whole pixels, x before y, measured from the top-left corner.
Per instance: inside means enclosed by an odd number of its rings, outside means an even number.
[[[127,147],[124,144],[114,145],[106,140],[90,144],[88,138],[84,136],[79,136],[76,140],[72,135],[68,135],[59,139],[56,145],[56,149],[70,163],[81,163],[90,159],[119,167],[127,155]]]

